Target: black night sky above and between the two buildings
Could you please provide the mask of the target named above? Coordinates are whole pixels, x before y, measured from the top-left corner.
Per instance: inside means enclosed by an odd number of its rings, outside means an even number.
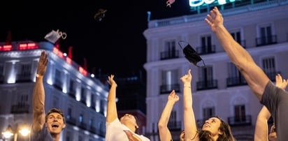
[[[8,31],[12,40],[46,41],[52,30],[65,32],[59,49],[68,52],[73,47],[73,60],[84,64],[87,71],[128,76],[145,71],[147,11],[150,20],[189,14],[188,0],[176,0],[171,8],[165,0],[82,0],[82,1],[1,1],[0,42]],[[94,15],[106,9],[99,22]],[[145,72],[144,72],[145,73]]]

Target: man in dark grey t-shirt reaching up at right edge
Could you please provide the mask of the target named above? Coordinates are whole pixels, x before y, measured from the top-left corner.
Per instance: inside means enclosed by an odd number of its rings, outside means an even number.
[[[211,30],[216,34],[219,43],[228,54],[229,58],[243,74],[247,84],[252,89],[261,104],[265,105],[275,121],[278,140],[287,140],[288,134],[288,92],[278,88],[269,80],[250,54],[233,39],[224,27],[222,14],[215,6],[205,19]],[[287,81],[287,80],[283,80]]]

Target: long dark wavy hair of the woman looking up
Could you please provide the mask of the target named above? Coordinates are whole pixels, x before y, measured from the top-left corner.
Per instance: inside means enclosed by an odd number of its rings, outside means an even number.
[[[219,135],[217,141],[235,141],[233,134],[231,132],[231,128],[228,123],[223,121],[220,117],[217,117],[221,121],[219,126],[219,130],[222,131],[222,135]],[[203,123],[205,124],[205,123]],[[202,125],[203,126],[203,125]],[[199,131],[199,140],[201,141],[213,141],[212,135],[210,131]]]

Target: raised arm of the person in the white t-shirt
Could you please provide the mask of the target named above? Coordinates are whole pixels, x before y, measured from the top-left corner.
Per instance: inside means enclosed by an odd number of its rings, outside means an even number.
[[[114,75],[108,76],[108,83],[110,84],[110,90],[108,93],[108,102],[107,102],[107,117],[106,117],[106,122],[108,123],[118,118],[116,100],[115,100],[117,84],[113,79],[114,79]]]

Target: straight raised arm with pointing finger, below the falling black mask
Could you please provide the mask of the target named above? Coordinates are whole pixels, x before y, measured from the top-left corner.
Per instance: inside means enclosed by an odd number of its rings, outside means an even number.
[[[183,83],[183,103],[184,103],[184,131],[185,140],[198,139],[196,121],[192,108],[192,75],[189,69],[188,73],[180,78]]]

